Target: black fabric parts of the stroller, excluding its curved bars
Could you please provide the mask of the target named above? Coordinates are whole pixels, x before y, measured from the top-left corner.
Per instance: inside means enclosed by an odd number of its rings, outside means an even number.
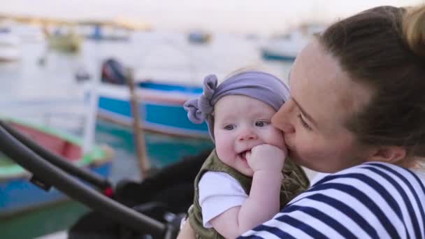
[[[172,224],[175,229],[186,216],[194,198],[194,178],[210,151],[185,157],[181,161],[143,182],[122,180],[117,184],[113,198],[129,208],[164,224]],[[103,216],[102,212],[92,211],[81,217],[69,231],[69,239],[79,238],[150,238],[141,231],[115,222]]]

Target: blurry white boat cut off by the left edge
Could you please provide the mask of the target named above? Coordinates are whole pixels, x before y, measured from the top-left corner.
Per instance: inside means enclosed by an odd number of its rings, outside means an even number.
[[[20,38],[7,27],[0,28],[0,61],[17,61],[21,57]]]

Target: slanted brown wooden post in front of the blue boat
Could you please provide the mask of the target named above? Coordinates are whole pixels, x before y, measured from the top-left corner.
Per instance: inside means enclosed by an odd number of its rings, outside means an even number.
[[[133,115],[134,144],[136,147],[138,165],[141,171],[141,178],[143,179],[147,176],[150,165],[146,155],[146,144],[145,138],[143,137],[142,119],[138,108],[136,84],[134,82],[134,73],[131,68],[126,69],[126,80],[129,86],[131,114]]]

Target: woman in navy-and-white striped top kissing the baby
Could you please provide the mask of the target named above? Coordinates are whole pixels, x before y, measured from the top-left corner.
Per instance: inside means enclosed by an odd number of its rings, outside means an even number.
[[[303,49],[272,122],[291,159],[331,175],[241,238],[425,238],[423,26],[425,6],[381,6]]]

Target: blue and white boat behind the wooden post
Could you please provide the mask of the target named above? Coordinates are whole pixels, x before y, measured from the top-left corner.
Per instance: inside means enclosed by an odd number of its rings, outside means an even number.
[[[144,129],[176,136],[208,138],[205,123],[194,124],[187,119],[183,104],[198,97],[202,88],[166,82],[137,83],[136,95]],[[131,126],[130,93],[127,85],[102,82],[97,89],[98,115],[103,119]]]

